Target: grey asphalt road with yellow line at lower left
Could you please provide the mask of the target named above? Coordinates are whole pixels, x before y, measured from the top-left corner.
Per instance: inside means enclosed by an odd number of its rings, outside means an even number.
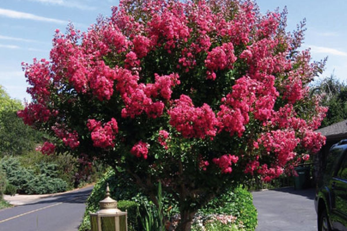
[[[0,210],[1,231],[75,231],[93,186]]]

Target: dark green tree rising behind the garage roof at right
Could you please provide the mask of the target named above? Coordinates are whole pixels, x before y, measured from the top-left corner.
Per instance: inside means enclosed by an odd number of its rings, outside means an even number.
[[[340,82],[334,74],[331,74],[330,77],[325,77],[312,85],[311,92],[322,95],[322,106],[329,108],[321,127],[347,119],[347,85],[345,82]]]

